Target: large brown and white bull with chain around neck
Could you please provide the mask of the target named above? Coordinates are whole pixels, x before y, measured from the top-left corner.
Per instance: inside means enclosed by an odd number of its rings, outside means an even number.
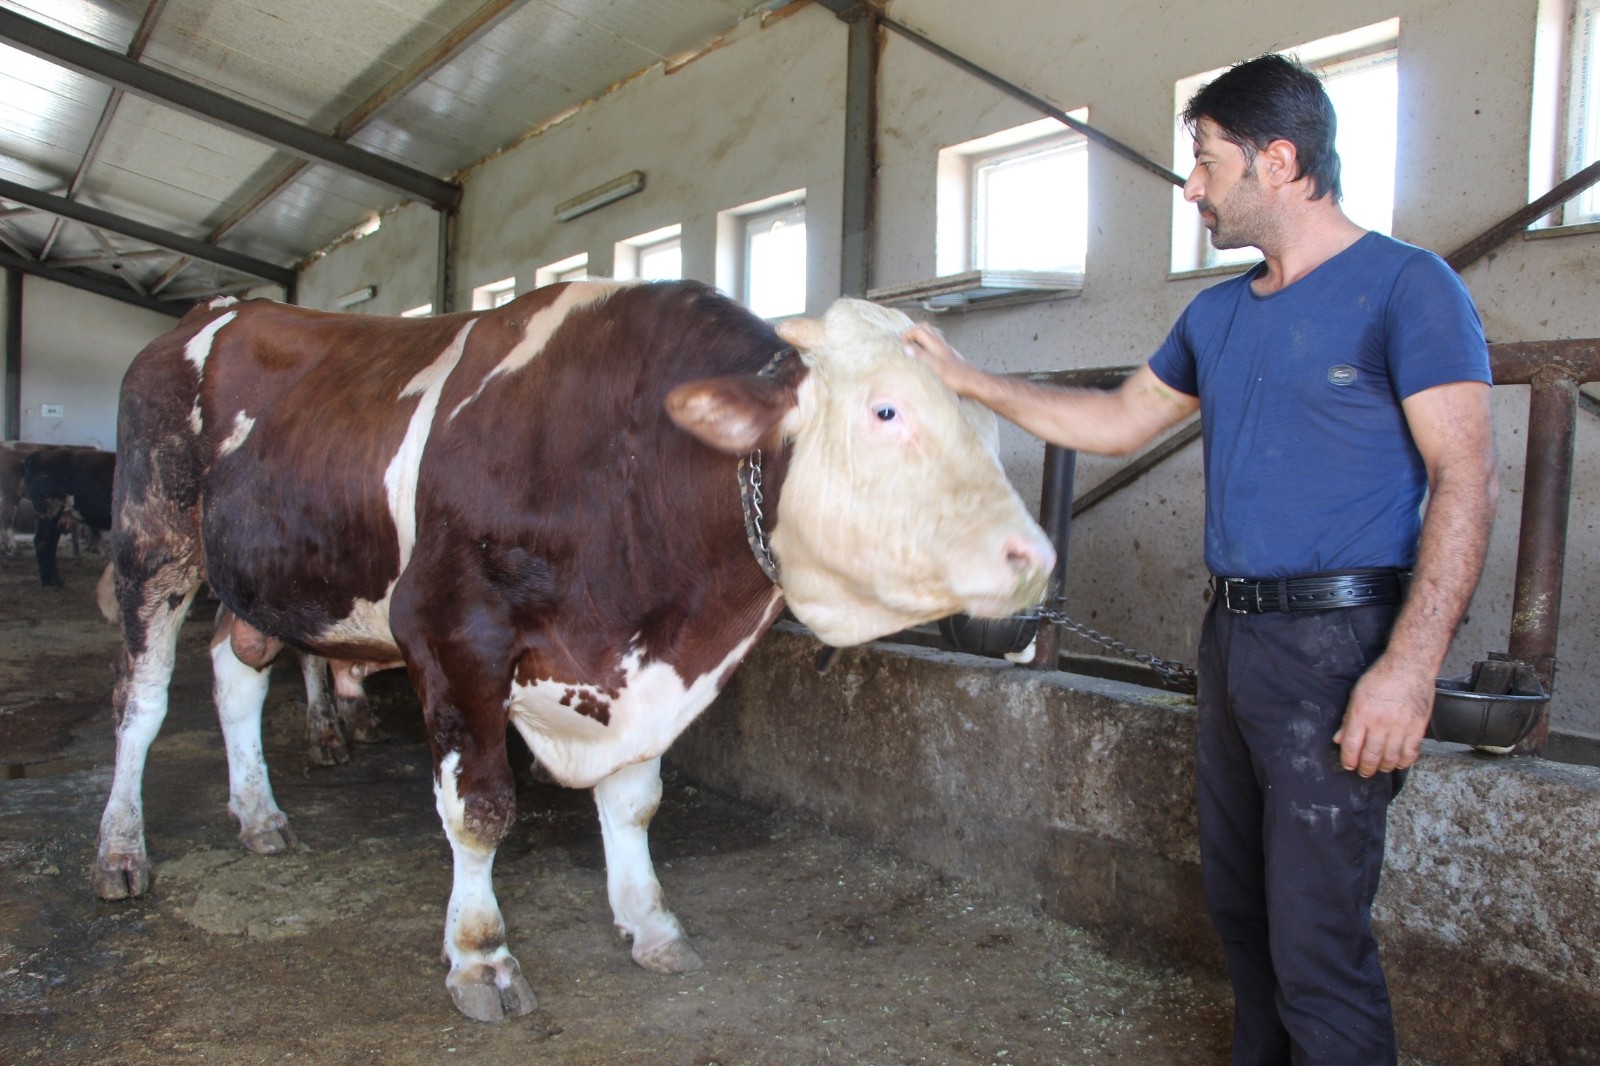
[[[840,301],[774,333],[693,282],[555,285],[422,320],[187,315],[122,391],[99,893],[149,888],[144,759],[210,581],[235,615],[211,656],[246,847],[291,840],[259,739],[277,650],[357,674],[403,663],[454,855],[456,1007],[494,1021],[536,1005],[491,887],[514,821],[507,723],[558,781],[594,789],[634,959],[699,967],[650,861],[661,754],[784,602],[848,645],[1034,603],[1054,562],[994,418],[906,357],[906,325]]]

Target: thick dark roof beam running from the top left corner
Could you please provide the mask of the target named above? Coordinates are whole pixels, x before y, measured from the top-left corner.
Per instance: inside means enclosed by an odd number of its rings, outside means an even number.
[[[176,107],[205,122],[227,126],[301,158],[373,181],[435,208],[450,210],[461,205],[461,186],[454,182],[346,144],[338,138],[317,133],[171,74],[146,67],[123,54],[42,26],[5,8],[0,8],[0,40],[30,56],[48,59],[123,91]]]

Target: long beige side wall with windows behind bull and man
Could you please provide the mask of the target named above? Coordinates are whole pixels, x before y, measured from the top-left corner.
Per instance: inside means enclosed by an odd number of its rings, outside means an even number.
[[[1450,251],[1528,200],[1528,131],[1536,0],[1226,0],[1205,19],[1170,5],[1042,0],[896,0],[890,13],[1154,160],[1171,162],[1173,86],[1186,77],[1269,48],[1400,19],[1400,146],[1395,234]],[[1181,26],[1174,22],[1181,21]],[[622,85],[573,117],[467,174],[458,306],[507,275],[518,288],[539,266],[586,251],[605,274],[613,243],[680,222],[685,272],[717,282],[722,210],[806,189],[810,304],[838,290],[846,29],[819,6],[750,19],[728,42],[667,74]],[[1136,56],[1138,61],[1130,61]],[[934,171],[941,147],[1035,118],[1021,104],[888,35],[880,75],[880,200],[874,285],[934,274]],[[573,222],[554,203],[629,170],[646,187]],[[947,315],[942,328],[976,362],[997,370],[1126,365],[1144,360],[1184,304],[1214,279],[1168,277],[1173,190],[1099,149],[1090,154],[1088,277],[1080,298]],[[408,206],[382,229],[312,264],[301,298],[326,306],[376,283],[362,311],[392,314],[432,299],[434,214]],[[1496,341],[1600,336],[1600,234],[1515,238],[1466,272]],[[1446,672],[1466,672],[1504,650],[1522,504],[1526,389],[1496,402],[1504,496],[1491,562]],[[1600,738],[1600,424],[1582,415],[1573,496],[1557,730]],[[1010,429],[1006,464],[1037,499],[1040,448]],[[1085,456],[1078,491],[1120,461]],[[1085,514],[1072,533],[1069,610],[1094,627],[1163,658],[1194,653],[1205,570],[1202,474],[1190,445],[1133,490]],[[1077,639],[1069,637],[1075,650]]]

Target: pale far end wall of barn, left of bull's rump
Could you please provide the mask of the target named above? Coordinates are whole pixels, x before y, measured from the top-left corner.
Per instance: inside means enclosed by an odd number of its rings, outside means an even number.
[[[22,279],[21,315],[21,439],[115,450],[122,375],[178,320],[37,277]]]

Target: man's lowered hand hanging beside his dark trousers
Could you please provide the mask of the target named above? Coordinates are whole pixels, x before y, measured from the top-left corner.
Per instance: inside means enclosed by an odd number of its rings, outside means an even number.
[[[1414,763],[1434,712],[1434,685],[1430,671],[1379,656],[1350,691],[1344,725],[1333,735],[1339,763],[1363,778]]]

